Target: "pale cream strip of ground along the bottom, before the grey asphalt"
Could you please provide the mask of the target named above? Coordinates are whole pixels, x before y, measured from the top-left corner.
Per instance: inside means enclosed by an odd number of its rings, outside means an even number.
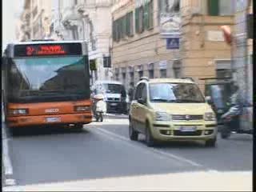
[[[252,173],[214,170],[18,186],[23,191],[252,191]]]

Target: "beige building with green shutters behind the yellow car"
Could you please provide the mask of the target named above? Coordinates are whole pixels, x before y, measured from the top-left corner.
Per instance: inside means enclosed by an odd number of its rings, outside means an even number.
[[[230,76],[222,25],[234,25],[232,0],[126,0],[112,7],[115,79]]]

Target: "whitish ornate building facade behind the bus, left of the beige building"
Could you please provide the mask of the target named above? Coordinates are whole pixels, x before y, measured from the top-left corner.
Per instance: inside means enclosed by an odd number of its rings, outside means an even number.
[[[89,59],[97,65],[93,81],[112,78],[110,69],[113,0],[58,0],[54,5],[54,31],[58,38],[85,40]]]

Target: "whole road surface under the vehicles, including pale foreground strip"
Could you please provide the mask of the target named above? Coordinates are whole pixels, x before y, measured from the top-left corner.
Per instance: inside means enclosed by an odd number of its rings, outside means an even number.
[[[54,186],[56,190],[251,189],[253,139],[246,134],[218,138],[215,148],[201,142],[148,148],[143,135],[138,142],[130,141],[125,116],[113,116],[85,125],[82,131],[24,129],[8,144],[12,179],[20,190],[53,190]],[[213,177],[208,182],[207,175]]]

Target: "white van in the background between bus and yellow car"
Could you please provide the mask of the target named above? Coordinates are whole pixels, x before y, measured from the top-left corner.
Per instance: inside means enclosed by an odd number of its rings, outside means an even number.
[[[92,94],[103,94],[107,113],[127,113],[128,96],[122,82],[96,81],[92,86]]]

